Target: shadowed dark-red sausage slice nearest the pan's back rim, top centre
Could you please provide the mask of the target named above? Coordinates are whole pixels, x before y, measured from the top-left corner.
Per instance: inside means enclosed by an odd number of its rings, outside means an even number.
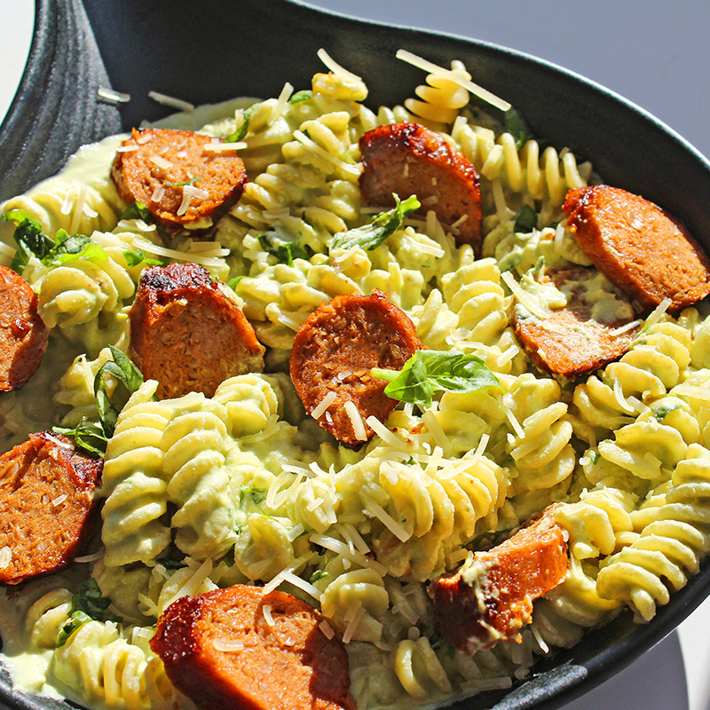
[[[418,123],[368,130],[359,140],[364,170],[360,193],[367,205],[393,207],[416,195],[446,225],[456,225],[456,244],[481,251],[481,191],[478,173],[460,150]]]

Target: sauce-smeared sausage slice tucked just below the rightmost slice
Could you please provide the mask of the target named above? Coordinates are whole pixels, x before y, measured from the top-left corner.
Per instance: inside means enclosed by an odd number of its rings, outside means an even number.
[[[627,328],[634,320],[630,304],[630,317],[607,314],[604,322],[593,318],[586,286],[596,278],[596,269],[583,266],[548,270],[540,277],[541,283],[552,282],[560,290],[573,284],[567,305],[551,311],[546,319],[531,317],[525,307],[516,307],[516,334],[543,372],[567,378],[585,375],[619,359],[634,342],[638,327]]]

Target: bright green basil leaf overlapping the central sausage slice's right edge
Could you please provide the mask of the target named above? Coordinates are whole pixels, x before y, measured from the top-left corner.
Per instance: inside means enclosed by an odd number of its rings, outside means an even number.
[[[496,387],[502,391],[482,359],[456,351],[416,351],[400,371],[373,367],[370,374],[390,382],[384,388],[388,397],[424,408],[431,406],[437,390],[472,392]]]

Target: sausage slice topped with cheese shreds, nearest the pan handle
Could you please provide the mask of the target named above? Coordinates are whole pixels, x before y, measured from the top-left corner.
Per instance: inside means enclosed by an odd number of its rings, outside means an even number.
[[[247,184],[241,158],[214,145],[192,130],[133,129],[111,177],[123,201],[145,203],[170,233],[209,233]]]

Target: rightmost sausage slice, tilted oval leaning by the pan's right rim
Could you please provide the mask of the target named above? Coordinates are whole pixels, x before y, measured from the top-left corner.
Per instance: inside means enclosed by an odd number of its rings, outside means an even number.
[[[710,261],[688,230],[663,209],[618,187],[570,190],[567,224],[580,247],[615,286],[651,310],[670,312],[710,294]]]

